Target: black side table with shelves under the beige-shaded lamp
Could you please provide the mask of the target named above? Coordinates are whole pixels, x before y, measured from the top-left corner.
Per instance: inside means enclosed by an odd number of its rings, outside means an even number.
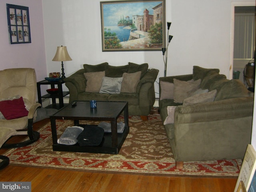
[[[62,84],[65,83],[64,80],[60,81],[48,81],[42,80],[37,82],[37,95],[38,95],[38,103],[42,104],[42,98],[52,98],[52,104],[47,106],[46,108],[55,108],[60,109],[64,106],[63,97],[69,94],[69,91],[62,91]],[[41,85],[51,85],[51,88],[55,88],[55,85],[58,85],[58,94],[46,94],[41,95]],[[59,103],[56,104],[56,98],[59,99]]]

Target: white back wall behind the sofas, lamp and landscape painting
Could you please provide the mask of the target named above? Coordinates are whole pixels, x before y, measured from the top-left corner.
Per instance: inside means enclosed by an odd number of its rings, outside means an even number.
[[[161,51],[102,52],[100,1],[42,0],[48,72],[60,71],[60,62],[52,58],[56,47],[63,45],[73,59],[64,62],[66,76],[85,63],[105,61],[113,66],[147,62],[164,76]],[[172,22],[174,36],[167,76],[192,73],[193,65],[220,68],[230,76],[231,1],[166,0],[166,21]]]

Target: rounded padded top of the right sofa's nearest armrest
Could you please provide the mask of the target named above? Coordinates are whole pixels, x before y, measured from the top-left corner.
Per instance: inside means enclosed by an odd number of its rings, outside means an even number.
[[[174,112],[174,124],[252,116],[253,102],[253,97],[243,97],[177,106]]]

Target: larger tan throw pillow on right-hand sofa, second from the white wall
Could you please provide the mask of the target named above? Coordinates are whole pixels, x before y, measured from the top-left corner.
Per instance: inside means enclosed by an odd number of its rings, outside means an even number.
[[[174,79],[174,102],[183,103],[183,100],[190,96],[190,92],[196,91],[200,87],[201,79],[196,81],[181,81]]]

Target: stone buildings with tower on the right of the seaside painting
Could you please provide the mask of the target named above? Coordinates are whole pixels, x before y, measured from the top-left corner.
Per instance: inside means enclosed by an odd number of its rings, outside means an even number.
[[[143,15],[133,15],[132,23],[136,26],[137,30],[147,32],[150,26],[155,23],[162,22],[163,13],[162,13],[162,3],[153,7],[153,15],[149,14],[147,9],[144,10]]]

